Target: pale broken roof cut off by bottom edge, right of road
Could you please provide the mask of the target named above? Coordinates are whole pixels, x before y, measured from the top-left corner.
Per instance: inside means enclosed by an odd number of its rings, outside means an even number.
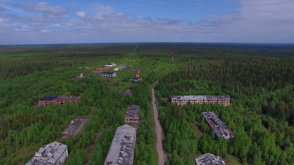
[[[196,165],[226,165],[221,157],[207,153],[195,158]]]

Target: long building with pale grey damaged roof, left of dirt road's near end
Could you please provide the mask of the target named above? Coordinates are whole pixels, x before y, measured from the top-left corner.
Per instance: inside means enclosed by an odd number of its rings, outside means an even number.
[[[104,165],[133,165],[136,128],[123,125],[117,128]]]

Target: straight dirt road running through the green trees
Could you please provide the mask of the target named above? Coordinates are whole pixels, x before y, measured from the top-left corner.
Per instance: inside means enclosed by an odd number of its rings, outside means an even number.
[[[156,134],[156,150],[158,156],[158,165],[164,165],[166,161],[166,155],[163,152],[163,131],[160,126],[159,118],[158,118],[158,111],[155,102],[155,85],[152,86],[152,107],[154,113],[154,121],[155,121],[155,134]]]

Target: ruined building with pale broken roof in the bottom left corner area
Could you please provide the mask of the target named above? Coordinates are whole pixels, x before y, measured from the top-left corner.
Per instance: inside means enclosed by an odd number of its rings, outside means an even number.
[[[42,146],[25,165],[63,165],[67,157],[67,146],[52,142]]]

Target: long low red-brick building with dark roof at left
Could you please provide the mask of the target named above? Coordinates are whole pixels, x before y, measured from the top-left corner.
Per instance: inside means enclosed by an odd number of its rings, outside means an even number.
[[[78,103],[81,100],[81,96],[45,96],[39,99],[39,106],[46,106],[51,104],[61,104],[65,102]]]

